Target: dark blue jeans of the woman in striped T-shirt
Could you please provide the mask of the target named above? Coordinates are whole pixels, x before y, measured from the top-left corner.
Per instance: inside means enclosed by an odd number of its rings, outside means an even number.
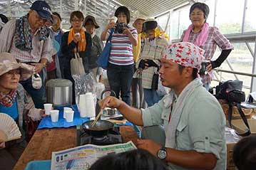
[[[130,105],[130,84],[133,80],[133,65],[113,65],[109,64],[107,68],[108,83],[111,90],[116,92],[116,97],[121,98],[123,102]]]

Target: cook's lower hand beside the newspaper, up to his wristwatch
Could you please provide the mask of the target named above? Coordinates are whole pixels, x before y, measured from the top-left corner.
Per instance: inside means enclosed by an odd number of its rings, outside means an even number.
[[[153,142],[150,139],[138,139],[137,140],[137,147],[140,149],[145,149],[151,154],[157,156],[158,150],[161,149],[161,145]]]

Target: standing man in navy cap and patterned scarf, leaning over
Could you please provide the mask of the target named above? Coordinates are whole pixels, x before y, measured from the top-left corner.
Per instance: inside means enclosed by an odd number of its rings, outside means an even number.
[[[0,52],[12,53],[20,63],[34,65],[34,72],[39,73],[41,79],[43,79],[43,68],[48,60],[51,60],[51,38],[44,26],[49,19],[51,19],[51,7],[46,1],[35,1],[26,16],[6,23],[0,34]],[[37,79],[40,81],[40,78]],[[20,83],[29,92],[36,107],[43,108],[43,103],[46,102],[45,87],[43,82],[41,87],[40,85],[36,87],[35,83],[32,85],[33,80],[29,78]]]

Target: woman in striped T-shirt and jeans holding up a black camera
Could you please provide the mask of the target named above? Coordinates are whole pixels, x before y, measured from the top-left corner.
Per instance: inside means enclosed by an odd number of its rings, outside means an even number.
[[[130,26],[130,11],[126,6],[116,9],[115,16],[101,33],[105,41],[112,34],[111,51],[108,59],[108,83],[116,97],[130,105],[130,85],[133,79],[133,46],[137,46],[138,33]],[[116,21],[114,21],[116,19]]]

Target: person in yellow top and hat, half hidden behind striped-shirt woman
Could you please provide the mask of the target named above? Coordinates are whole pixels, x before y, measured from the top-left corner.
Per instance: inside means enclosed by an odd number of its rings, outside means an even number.
[[[142,33],[142,27],[143,27],[144,21],[145,21],[144,16],[138,16],[138,18],[136,18],[136,20],[133,23],[133,27],[136,28],[138,32],[138,45],[133,46],[134,66],[136,65],[136,62],[140,57],[141,33]],[[134,67],[134,72],[135,70],[136,68]],[[143,94],[143,87],[141,86],[141,78],[133,78],[131,89],[132,89],[132,96],[133,96],[133,107],[145,108],[146,106],[145,106],[145,100],[144,100],[144,94]]]

